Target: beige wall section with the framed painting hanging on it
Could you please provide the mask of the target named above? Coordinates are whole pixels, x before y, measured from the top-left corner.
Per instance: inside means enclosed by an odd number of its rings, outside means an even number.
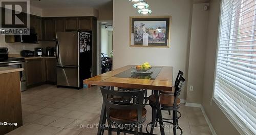
[[[142,16],[133,3],[114,0],[113,2],[113,67],[150,62],[152,65],[174,66],[174,76],[181,70],[187,78],[188,52],[190,42],[191,8],[189,0],[148,0],[152,16],[172,16],[170,48],[129,47],[129,17]],[[186,98],[186,87],[181,99]]]

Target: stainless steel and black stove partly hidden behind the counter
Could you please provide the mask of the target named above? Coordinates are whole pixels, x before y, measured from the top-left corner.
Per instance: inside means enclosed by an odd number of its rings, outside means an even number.
[[[25,68],[24,58],[8,57],[8,53],[9,52],[7,48],[0,48],[0,67]],[[21,91],[25,91],[27,89],[25,69],[24,71],[19,72],[19,78]]]

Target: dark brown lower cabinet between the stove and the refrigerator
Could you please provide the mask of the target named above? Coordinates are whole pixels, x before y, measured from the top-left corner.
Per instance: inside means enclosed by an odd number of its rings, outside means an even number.
[[[55,58],[25,59],[27,86],[57,82]]]

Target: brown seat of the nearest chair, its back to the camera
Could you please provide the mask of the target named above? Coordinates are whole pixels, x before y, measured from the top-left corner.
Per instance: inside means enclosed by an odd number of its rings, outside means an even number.
[[[146,109],[142,110],[142,119],[146,117]],[[110,108],[110,119],[117,121],[137,121],[137,110],[120,110]]]

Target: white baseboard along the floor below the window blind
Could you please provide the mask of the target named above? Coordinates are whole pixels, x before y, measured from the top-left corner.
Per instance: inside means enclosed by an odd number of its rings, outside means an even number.
[[[207,122],[207,124],[208,124],[208,126],[209,126],[209,128],[210,128],[211,134],[217,135],[216,132],[215,132],[215,130],[214,130],[214,127],[212,127],[212,125],[211,125],[211,123],[210,123],[210,120],[209,120],[209,118],[207,117],[207,115],[206,115],[206,113],[205,113],[205,111],[204,111],[204,107],[202,106],[202,104],[199,104],[199,103],[188,103],[188,102],[186,102],[186,103],[185,103],[185,106],[189,106],[189,107],[199,107],[199,108],[201,108],[201,111],[202,111],[202,113],[203,113],[203,115],[204,115],[204,119],[205,119],[205,121]]]

